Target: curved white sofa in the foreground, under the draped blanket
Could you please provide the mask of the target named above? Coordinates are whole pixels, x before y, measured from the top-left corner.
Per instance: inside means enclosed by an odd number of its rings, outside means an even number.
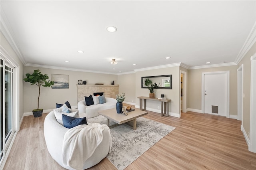
[[[88,125],[92,124],[88,123]],[[69,128],[62,126],[60,125],[60,123],[57,122],[54,115],[54,111],[50,112],[46,116],[44,120],[44,138],[50,155],[63,168],[73,169],[69,166],[64,166],[62,160],[62,146],[64,144],[63,140],[64,135],[68,130]],[[88,158],[87,160],[83,161],[83,169],[87,169],[98,164],[102,159],[104,159],[108,155],[110,142],[112,145],[112,138],[111,136],[109,136],[110,134],[108,130],[108,127],[104,128],[102,142],[98,145],[92,156],[90,156],[90,158]]]

